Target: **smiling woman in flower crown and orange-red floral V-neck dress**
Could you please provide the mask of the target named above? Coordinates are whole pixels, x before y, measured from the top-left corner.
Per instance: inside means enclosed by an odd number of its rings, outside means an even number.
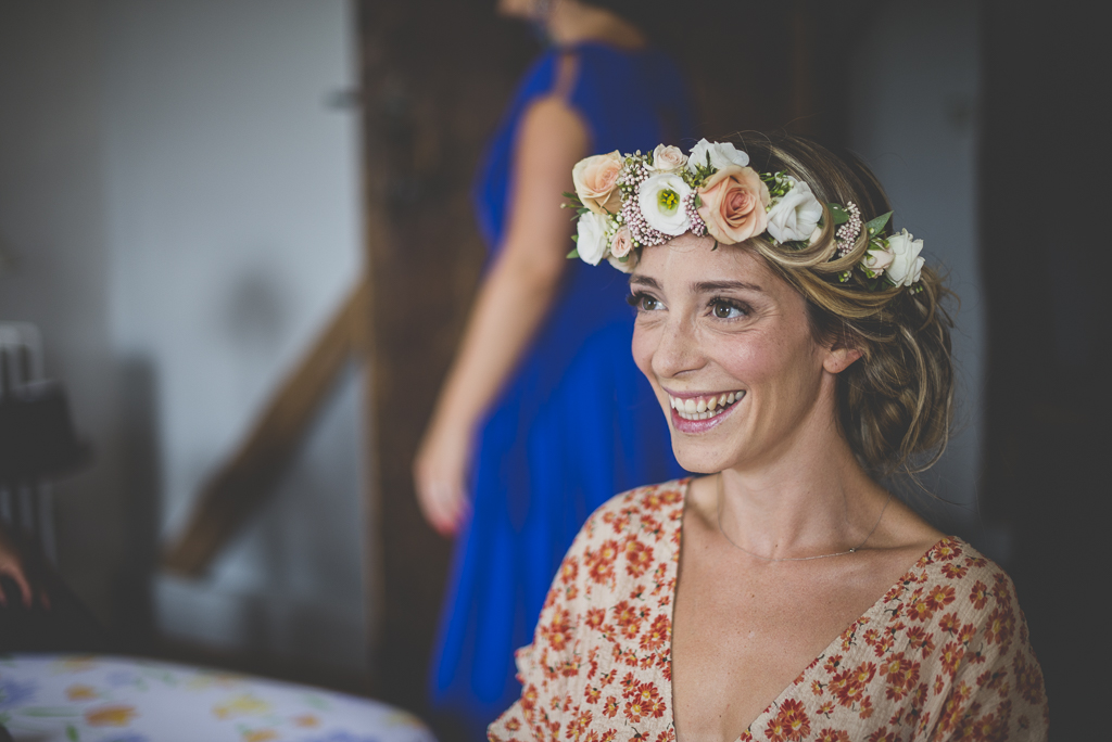
[[[929,465],[951,422],[922,241],[888,228],[861,163],[746,149],[703,141],[664,173],[662,148],[625,156],[619,209],[580,199],[603,227],[580,251],[629,273],[634,359],[707,475],[588,520],[490,739],[1045,739],[1011,581],[880,484]],[[682,219],[645,198],[661,174]]]

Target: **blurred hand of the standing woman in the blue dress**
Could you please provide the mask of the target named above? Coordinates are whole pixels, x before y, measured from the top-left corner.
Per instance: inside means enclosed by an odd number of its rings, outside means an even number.
[[[417,503],[440,535],[455,535],[470,508],[467,467],[473,435],[459,425],[437,421],[425,433],[414,459]]]

